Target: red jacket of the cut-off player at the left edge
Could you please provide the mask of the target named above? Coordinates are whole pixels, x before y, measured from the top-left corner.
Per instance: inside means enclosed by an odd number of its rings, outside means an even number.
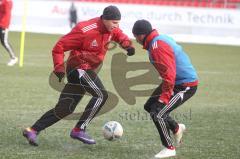
[[[9,27],[11,20],[12,0],[0,1],[0,28]]]

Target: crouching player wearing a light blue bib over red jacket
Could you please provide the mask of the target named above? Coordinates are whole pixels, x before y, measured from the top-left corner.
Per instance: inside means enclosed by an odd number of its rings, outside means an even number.
[[[165,147],[155,157],[176,156],[169,131],[173,132],[178,145],[186,127],[178,124],[169,114],[195,94],[197,73],[182,47],[169,36],[152,29],[147,20],[136,21],[132,32],[137,42],[143,45],[143,49],[148,50],[149,60],[162,78],[161,84],[144,105]]]

